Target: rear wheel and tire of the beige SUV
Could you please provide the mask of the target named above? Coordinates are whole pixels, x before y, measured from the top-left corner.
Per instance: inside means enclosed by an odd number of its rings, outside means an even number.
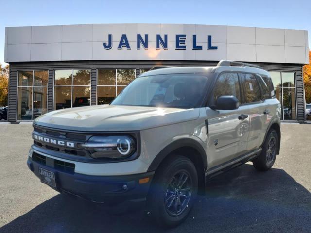
[[[278,136],[275,130],[270,129],[259,157],[253,160],[254,167],[259,171],[270,170],[276,161],[278,150]]]

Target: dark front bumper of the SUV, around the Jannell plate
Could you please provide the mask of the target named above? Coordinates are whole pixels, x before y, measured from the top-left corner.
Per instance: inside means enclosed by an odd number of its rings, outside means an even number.
[[[39,167],[54,172],[56,188],[52,188],[58,192],[107,204],[145,199],[154,176],[154,172],[122,176],[90,176],[43,165],[31,157],[28,157],[27,165],[38,178],[40,178]],[[140,184],[139,180],[144,178],[149,178],[149,182]]]

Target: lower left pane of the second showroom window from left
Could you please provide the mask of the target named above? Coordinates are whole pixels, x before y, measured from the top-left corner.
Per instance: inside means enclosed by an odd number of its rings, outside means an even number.
[[[54,110],[71,108],[71,86],[54,87]]]

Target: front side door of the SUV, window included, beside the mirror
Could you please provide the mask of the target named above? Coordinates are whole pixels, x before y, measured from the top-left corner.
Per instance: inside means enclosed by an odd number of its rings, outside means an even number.
[[[220,96],[233,95],[237,97],[241,105],[236,110],[206,108],[210,166],[227,163],[246,152],[249,118],[239,119],[239,116],[247,114],[248,110],[248,107],[243,104],[240,83],[237,73],[222,73],[213,88],[212,102]]]

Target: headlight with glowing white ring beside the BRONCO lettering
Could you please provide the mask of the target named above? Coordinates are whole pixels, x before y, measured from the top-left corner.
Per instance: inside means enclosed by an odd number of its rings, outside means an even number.
[[[93,158],[127,158],[136,150],[135,140],[131,136],[92,136],[81,144]]]

